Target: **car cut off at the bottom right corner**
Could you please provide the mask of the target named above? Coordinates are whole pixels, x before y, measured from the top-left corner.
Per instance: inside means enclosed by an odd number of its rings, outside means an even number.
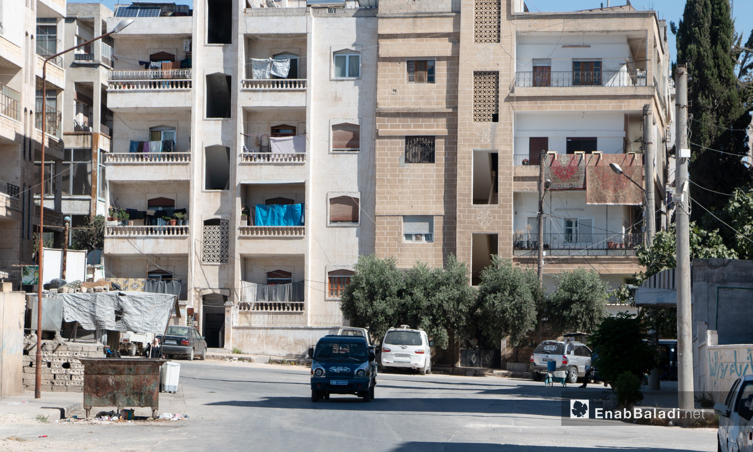
[[[753,375],[732,383],[724,403],[714,405],[719,415],[720,452],[753,452]]]

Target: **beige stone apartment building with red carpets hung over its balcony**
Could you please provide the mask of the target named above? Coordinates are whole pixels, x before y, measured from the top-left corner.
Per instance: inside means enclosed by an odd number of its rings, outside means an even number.
[[[655,11],[532,12],[520,0],[379,8],[377,254],[410,266],[456,253],[474,285],[491,255],[535,267],[543,152],[547,287],[576,267],[614,287],[636,273],[643,197],[610,163],[640,184],[655,148],[643,185],[666,227],[672,105]]]

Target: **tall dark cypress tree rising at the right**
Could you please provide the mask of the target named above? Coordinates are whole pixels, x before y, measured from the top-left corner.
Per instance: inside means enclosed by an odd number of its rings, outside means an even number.
[[[712,190],[691,185],[691,196],[707,209],[721,210],[727,199],[713,191],[731,193],[751,182],[751,170],[741,158],[748,148],[745,129],[751,121],[751,89],[740,83],[749,75],[746,61],[750,59],[745,60],[735,35],[729,0],[687,0],[682,20],[676,27],[672,23],[672,32],[677,35],[678,63],[691,65],[688,113],[694,121],[689,136],[695,145],[688,170],[691,180]],[[695,220],[703,215],[703,209],[692,214]]]

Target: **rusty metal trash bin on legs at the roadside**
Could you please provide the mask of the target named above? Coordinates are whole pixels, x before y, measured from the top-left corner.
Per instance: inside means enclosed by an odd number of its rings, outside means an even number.
[[[164,359],[79,358],[84,365],[84,410],[92,407],[160,409],[160,366]]]

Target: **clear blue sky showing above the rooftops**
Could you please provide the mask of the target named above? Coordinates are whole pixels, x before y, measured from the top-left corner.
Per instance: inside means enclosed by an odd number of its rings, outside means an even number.
[[[69,3],[92,3],[96,0],[68,0]],[[193,0],[167,0],[174,1],[178,5],[193,5]],[[590,8],[599,8],[601,3],[604,6],[607,0],[526,0],[529,11],[578,11]],[[112,9],[116,3],[128,4],[130,0],[102,0],[102,5]],[[611,6],[624,5],[626,0],[611,0]],[[666,19],[669,22],[678,23],[682,17],[685,8],[684,0],[657,0],[650,2],[648,0],[632,0],[633,8],[636,9],[655,9],[660,19]],[[738,32],[742,32],[742,41],[748,39],[750,28],[744,29],[744,26],[750,27],[753,24],[753,0],[733,0],[733,16],[735,17],[735,26]],[[675,35],[669,32],[669,50],[672,53],[672,60],[675,60],[677,51],[675,50]]]

